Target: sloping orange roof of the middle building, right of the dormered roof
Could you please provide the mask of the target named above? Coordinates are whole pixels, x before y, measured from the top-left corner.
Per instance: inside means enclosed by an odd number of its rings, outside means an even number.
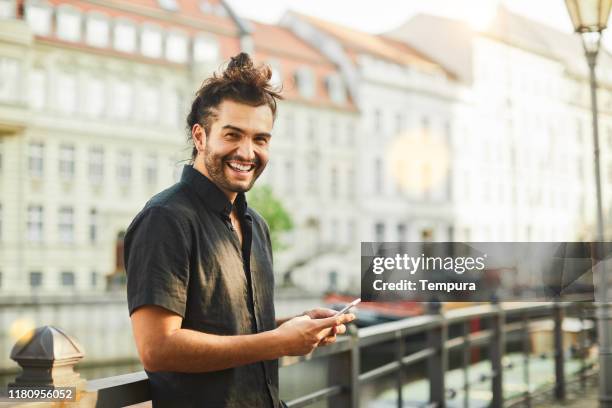
[[[349,54],[354,52],[366,53],[401,65],[421,65],[430,68],[437,66],[433,61],[424,58],[406,44],[400,47],[395,42],[389,41],[380,35],[358,31],[294,11],[290,13],[305,20],[315,28],[326,32],[328,35],[335,37],[347,49]]]

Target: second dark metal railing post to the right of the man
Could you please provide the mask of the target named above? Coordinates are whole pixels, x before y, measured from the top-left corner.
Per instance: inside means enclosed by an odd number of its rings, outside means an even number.
[[[431,315],[441,316],[441,305],[439,302],[428,303],[428,312]],[[446,351],[447,327],[446,320],[440,320],[440,324],[427,331],[427,345],[434,349],[434,354],[427,359],[427,373],[429,375],[429,402],[436,404],[438,408],[446,406],[445,374],[447,370]]]

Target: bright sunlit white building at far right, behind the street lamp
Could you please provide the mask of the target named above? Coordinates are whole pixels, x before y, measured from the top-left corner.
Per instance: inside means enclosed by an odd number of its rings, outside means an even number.
[[[418,15],[386,35],[469,86],[470,126],[455,141],[457,239],[593,239],[595,183],[589,77],[580,39],[503,7],[482,31]],[[604,192],[612,183],[612,58],[600,54]],[[604,196],[612,215],[610,195]],[[608,231],[608,234],[610,231]]]

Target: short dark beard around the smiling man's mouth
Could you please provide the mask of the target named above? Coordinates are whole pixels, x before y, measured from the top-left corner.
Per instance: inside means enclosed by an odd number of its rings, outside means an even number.
[[[266,167],[266,165],[263,164],[257,157],[254,159],[245,159],[244,157],[236,154],[222,156],[220,154],[211,152],[208,145],[206,147],[207,148],[204,152],[204,167],[206,167],[211,181],[223,190],[234,193],[246,193],[253,187],[255,180],[257,180]],[[229,177],[227,177],[225,167],[227,166],[227,162],[231,160],[249,162],[255,166],[250,172],[252,173],[250,181],[232,181]]]

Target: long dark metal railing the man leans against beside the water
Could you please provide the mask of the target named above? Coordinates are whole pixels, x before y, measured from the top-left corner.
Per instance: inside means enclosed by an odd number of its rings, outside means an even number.
[[[357,407],[360,403],[360,389],[383,377],[395,376],[397,406],[402,407],[405,399],[406,372],[409,367],[421,364],[426,367],[429,382],[429,401],[424,406],[445,407],[449,398],[455,398],[459,390],[446,386],[445,376],[450,366],[463,372],[463,405],[469,406],[470,390],[475,385],[470,380],[470,365],[474,363],[474,350],[486,354],[491,369],[478,379],[478,383],[490,381],[492,407],[512,406],[523,403],[529,406],[532,398],[542,393],[563,400],[569,378],[566,378],[564,355],[567,351],[577,353],[580,368],[577,382],[586,384],[589,370],[585,356],[590,347],[590,331],[594,325],[582,324],[592,320],[590,304],[581,303],[513,303],[487,304],[463,309],[440,311],[439,305],[432,304],[428,315],[413,317],[396,322],[383,323],[357,330],[349,327],[348,335],[327,347],[316,349],[303,357],[283,357],[281,367],[287,367],[312,359],[327,359],[328,383],[299,398],[287,401],[291,408],[305,407],[327,400],[333,407]],[[564,347],[563,322],[573,315],[581,322],[578,344]],[[532,357],[529,328],[534,322],[552,323],[553,347],[548,351],[554,360],[555,381],[550,387],[532,390],[530,387],[529,365]],[[479,327],[474,329],[474,322]],[[585,329],[586,327],[586,329]],[[518,334],[518,335],[517,335]],[[421,341],[414,341],[420,337]],[[509,338],[512,337],[510,340]],[[368,370],[360,367],[363,357],[369,351],[393,345],[393,357]],[[419,345],[422,347],[416,347]],[[522,353],[524,392],[511,399],[504,399],[504,370],[512,364],[504,364],[507,348]],[[449,359],[453,354],[454,357]],[[539,356],[541,357],[541,355]],[[482,360],[482,359],[481,359]],[[148,380],[144,372],[92,380],[87,383],[85,394],[96,401],[96,407],[118,407],[146,402],[150,399]]]

